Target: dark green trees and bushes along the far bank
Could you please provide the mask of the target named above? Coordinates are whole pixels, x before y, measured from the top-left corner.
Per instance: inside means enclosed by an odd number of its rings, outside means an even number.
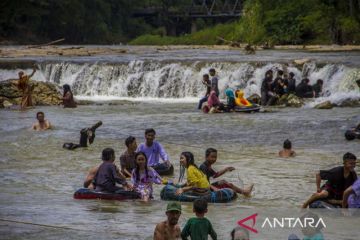
[[[3,0],[0,41],[67,44],[217,44],[218,37],[252,44],[360,44],[360,0],[245,0],[240,19],[175,21],[191,0]],[[157,6],[154,17],[134,17]],[[177,26],[176,31],[171,31]],[[171,34],[170,34],[171,33]],[[172,36],[169,36],[172,35]],[[176,36],[174,36],[176,35]]]

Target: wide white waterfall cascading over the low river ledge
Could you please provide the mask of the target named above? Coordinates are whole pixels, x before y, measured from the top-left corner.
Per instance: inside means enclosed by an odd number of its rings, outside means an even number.
[[[194,99],[205,93],[201,82],[202,75],[215,68],[219,76],[220,97],[224,90],[242,88],[245,95],[260,94],[260,86],[269,69],[293,72],[297,84],[307,77],[310,84],[323,79],[323,92],[326,96],[351,96],[360,98],[359,87],[355,81],[360,79],[360,69],[343,64],[317,64],[308,62],[302,68],[284,63],[246,63],[246,62],[161,62],[130,61],[128,63],[72,63],[59,62],[39,64],[39,71],[33,79],[48,81],[72,87],[75,96],[87,98],[155,98],[155,99]],[[1,71],[0,79],[12,75],[16,78],[18,70]],[[27,73],[31,69],[26,70]]]

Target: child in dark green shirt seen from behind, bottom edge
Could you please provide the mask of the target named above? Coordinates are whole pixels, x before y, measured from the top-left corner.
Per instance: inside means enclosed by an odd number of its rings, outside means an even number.
[[[207,239],[208,235],[213,240],[217,239],[217,234],[214,231],[211,222],[205,217],[207,213],[207,202],[200,198],[194,201],[193,212],[196,217],[190,218],[181,232],[181,238],[184,240],[188,239]]]

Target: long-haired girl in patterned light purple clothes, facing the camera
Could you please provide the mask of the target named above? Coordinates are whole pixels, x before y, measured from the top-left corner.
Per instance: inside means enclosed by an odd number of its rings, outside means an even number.
[[[162,183],[159,174],[152,167],[148,167],[147,157],[144,152],[135,154],[135,168],[131,173],[131,181],[134,185],[134,190],[140,193],[141,199],[145,202],[152,198],[152,184]]]

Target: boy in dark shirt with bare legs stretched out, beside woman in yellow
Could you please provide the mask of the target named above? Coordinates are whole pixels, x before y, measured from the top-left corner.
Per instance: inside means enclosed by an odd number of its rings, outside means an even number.
[[[211,165],[213,165],[216,162],[216,160],[217,160],[217,150],[214,148],[206,149],[205,162],[203,164],[201,164],[200,170],[203,173],[205,173],[209,182],[210,182],[210,177],[218,178],[221,175],[225,174],[226,172],[231,172],[231,171],[235,170],[234,167],[226,167],[223,170],[216,172],[214,169],[211,168]],[[220,181],[212,183],[210,188],[213,191],[216,191],[219,188],[220,189],[221,188],[231,188],[232,190],[234,190],[237,193],[244,194],[245,196],[249,196],[253,189],[253,186],[254,186],[254,184],[251,184],[249,187],[247,187],[245,189],[241,189],[232,183],[229,183],[225,180],[220,180]]]

